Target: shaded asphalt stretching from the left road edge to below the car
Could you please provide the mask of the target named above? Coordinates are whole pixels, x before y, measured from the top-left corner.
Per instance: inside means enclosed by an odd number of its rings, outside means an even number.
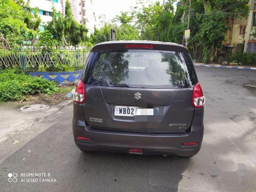
[[[72,130],[62,123],[66,126],[49,127],[0,165],[4,191],[177,191],[193,164],[175,156],[80,152]],[[9,183],[8,173],[17,173],[18,182]],[[50,173],[57,182],[22,183],[20,173]]]

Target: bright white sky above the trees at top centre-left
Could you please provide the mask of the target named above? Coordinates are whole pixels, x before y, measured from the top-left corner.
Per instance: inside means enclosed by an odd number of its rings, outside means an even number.
[[[148,4],[155,3],[157,1],[160,1],[160,3],[163,2],[163,0],[149,0],[147,1]],[[91,3],[92,2],[92,3]],[[100,26],[100,22],[98,17],[100,15],[105,15],[105,21],[109,22],[115,15],[118,15],[120,11],[131,11],[131,7],[136,6],[136,0],[89,0],[87,1],[87,11],[86,11],[86,17],[88,19],[87,27],[89,28],[89,33],[91,33],[94,29],[94,25],[96,23],[96,26]],[[94,19],[94,14],[96,16],[96,22]]]

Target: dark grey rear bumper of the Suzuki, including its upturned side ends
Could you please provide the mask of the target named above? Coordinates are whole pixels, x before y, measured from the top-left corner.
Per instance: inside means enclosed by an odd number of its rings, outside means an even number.
[[[75,113],[75,111],[74,111]],[[90,129],[84,118],[77,113],[73,118],[75,144],[82,151],[105,151],[129,153],[130,148],[143,150],[143,155],[194,156],[201,148],[203,140],[203,109],[196,109],[193,123],[186,133],[132,133]],[[83,141],[77,136],[91,138]],[[196,146],[183,146],[182,143],[198,142]]]

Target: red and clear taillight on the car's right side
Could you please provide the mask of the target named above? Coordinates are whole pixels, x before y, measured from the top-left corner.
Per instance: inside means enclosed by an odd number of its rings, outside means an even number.
[[[193,88],[191,103],[194,108],[201,108],[202,106],[204,106],[205,98],[199,82]]]

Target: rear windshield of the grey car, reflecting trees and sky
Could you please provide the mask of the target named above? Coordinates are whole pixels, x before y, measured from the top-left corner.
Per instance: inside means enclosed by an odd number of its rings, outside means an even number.
[[[186,53],[156,50],[92,52],[86,84],[131,88],[191,88],[197,77]]]

